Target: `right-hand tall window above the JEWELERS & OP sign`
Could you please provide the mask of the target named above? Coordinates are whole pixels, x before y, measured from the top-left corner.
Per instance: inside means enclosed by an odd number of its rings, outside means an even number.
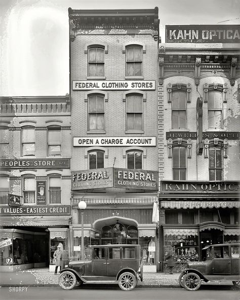
[[[208,126],[209,128],[222,128],[222,93],[209,92],[208,95]]]

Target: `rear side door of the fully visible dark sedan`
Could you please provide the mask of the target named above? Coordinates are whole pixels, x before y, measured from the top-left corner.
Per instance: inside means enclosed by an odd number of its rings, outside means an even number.
[[[107,276],[116,276],[119,270],[122,268],[122,248],[109,247],[107,257]]]

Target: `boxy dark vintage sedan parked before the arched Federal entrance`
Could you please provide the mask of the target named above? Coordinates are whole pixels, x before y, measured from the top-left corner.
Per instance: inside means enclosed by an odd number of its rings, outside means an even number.
[[[86,261],[70,261],[60,271],[58,283],[63,289],[84,283],[118,283],[122,290],[130,291],[138,279],[143,280],[140,245],[94,245],[89,256]]]

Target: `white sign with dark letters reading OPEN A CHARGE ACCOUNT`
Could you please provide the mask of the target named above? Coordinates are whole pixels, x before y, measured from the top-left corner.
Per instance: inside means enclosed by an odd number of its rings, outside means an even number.
[[[73,137],[73,146],[156,146],[156,137]]]

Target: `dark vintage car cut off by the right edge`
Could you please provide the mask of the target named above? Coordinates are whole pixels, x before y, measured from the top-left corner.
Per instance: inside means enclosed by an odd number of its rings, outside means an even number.
[[[187,269],[179,276],[179,284],[187,290],[197,290],[201,282],[232,281],[240,288],[239,272],[240,244],[216,244],[203,248],[206,250],[206,260],[203,262],[188,262]]]

